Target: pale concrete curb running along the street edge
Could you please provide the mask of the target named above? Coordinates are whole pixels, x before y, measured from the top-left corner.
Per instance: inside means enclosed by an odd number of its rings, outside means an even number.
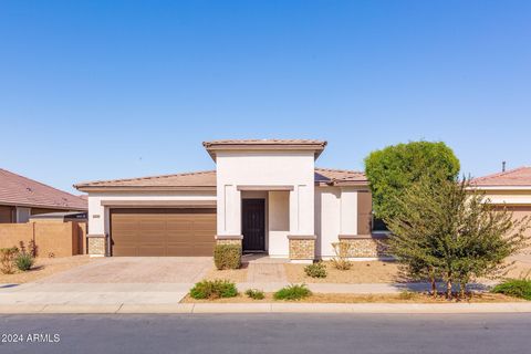
[[[503,303],[175,303],[0,305],[0,314],[171,314],[171,313],[531,313],[531,302]]]

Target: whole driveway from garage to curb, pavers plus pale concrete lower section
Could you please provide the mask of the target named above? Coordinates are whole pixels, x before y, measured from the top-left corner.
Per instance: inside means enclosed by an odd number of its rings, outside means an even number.
[[[176,304],[214,267],[210,257],[102,258],[0,289],[2,305]]]

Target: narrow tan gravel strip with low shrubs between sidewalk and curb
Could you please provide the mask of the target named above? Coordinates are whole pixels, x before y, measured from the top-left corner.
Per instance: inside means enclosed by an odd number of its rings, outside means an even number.
[[[524,300],[506,296],[502,294],[478,293],[460,301],[468,303],[487,303],[487,302],[522,302]],[[273,293],[266,293],[263,300],[252,300],[240,293],[236,298],[217,299],[217,300],[195,300],[187,295],[181,300],[183,303],[270,303],[270,302],[293,302],[274,300]],[[309,303],[455,303],[457,300],[448,301],[445,296],[439,295],[434,299],[427,293],[407,293],[403,294],[323,294],[314,293],[313,295],[303,300],[294,302]]]

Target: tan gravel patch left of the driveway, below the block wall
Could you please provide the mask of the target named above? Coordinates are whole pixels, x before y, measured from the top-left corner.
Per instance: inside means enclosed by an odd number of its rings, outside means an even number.
[[[85,264],[90,261],[88,256],[73,256],[61,258],[37,258],[33,267],[27,272],[14,274],[0,273],[0,283],[21,284],[32,282],[55,273]]]

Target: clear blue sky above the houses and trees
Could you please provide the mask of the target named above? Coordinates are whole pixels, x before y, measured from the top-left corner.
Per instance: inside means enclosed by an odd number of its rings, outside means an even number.
[[[217,138],[531,165],[531,1],[4,0],[0,123],[0,167],[69,191],[214,168]]]

